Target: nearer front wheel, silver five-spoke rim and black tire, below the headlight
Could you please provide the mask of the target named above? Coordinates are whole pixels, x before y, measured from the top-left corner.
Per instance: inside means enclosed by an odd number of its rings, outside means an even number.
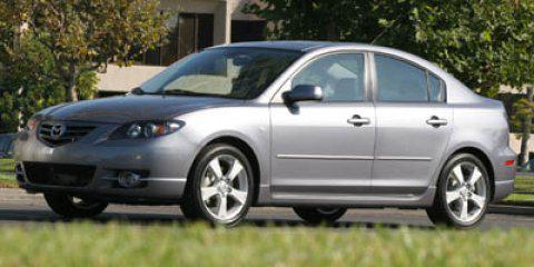
[[[235,226],[254,198],[254,176],[248,158],[236,147],[215,144],[200,152],[181,200],[188,219]],[[224,208],[225,207],[225,208]]]

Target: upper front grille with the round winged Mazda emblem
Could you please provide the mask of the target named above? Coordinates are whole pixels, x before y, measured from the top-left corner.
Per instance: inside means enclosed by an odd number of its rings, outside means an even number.
[[[73,122],[41,122],[39,139],[49,146],[75,142],[91,132],[96,127]]]

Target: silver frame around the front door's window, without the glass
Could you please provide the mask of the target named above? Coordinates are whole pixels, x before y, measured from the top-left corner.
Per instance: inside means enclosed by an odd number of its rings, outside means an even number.
[[[339,51],[332,51],[332,52],[327,52],[327,53],[320,53],[320,55],[317,55],[308,60],[306,60],[305,62],[303,62],[297,70],[295,70],[284,82],[283,82],[283,86],[280,86],[280,88],[278,88],[278,90],[273,95],[273,97],[270,98],[270,103],[283,103],[284,100],[281,98],[281,95],[285,92],[285,91],[288,91],[288,90],[291,90],[293,89],[293,79],[295,79],[295,77],[300,73],[300,71],[303,71],[305,68],[307,68],[309,65],[314,63],[315,61],[322,59],[322,58],[325,58],[325,57],[329,57],[329,56],[336,56],[336,55],[362,55],[364,57],[364,77],[365,77],[365,80],[364,80],[364,91],[363,91],[363,100],[358,100],[358,101],[325,101],[325,100],[322,100],[322,101],[317,101],[316,103],[329,103],[329,105],[336,105],[336,103],[339,103],[339,105],[343,105],[343,103],[364,103],[364,102],[373,102],[373,78],[372,78],[372,72],[370,72],[370,57],[369,57],[369,52],[368,51],[364,51],[364,50],[339,50]]]

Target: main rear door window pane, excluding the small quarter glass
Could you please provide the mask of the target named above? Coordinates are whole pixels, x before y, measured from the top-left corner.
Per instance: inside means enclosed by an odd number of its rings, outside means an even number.
[[[379,101],[428,101],[426,71],[405,61],[375,56]]]

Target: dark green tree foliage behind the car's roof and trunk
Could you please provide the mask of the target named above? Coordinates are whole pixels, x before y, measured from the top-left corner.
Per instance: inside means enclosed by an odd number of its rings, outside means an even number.
[[[436,62],[494,97],[531,83],[534,3],[503,0],[260,0],[245,7],[274,26],[271,39],[370,42]]]

